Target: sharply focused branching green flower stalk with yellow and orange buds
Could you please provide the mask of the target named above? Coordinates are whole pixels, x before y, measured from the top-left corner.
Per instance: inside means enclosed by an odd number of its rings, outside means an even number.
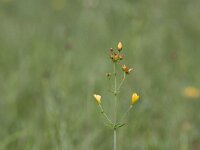
[[[112,119],[110,119],[108,117],[108,115],[106,114],[106,112],[104,111],[101,103],[101,95],[97,95],[94,94],[94,98],[101,110],[101,113],[103,114],[103,116],[105,117],[105,119],[108,121],[107,126],[110,127],[113,130],[113,150],[117,150],[117,130],[126,125],[126,123],[121,123],[123,121],[123,119],[127,116],[127,114],[129,113],[129,111],[133,108],[133,105],[139,100],[140,96],[137,93],[133,93],[132,97],[131,97],[131,103],[129,108],[125,111],[125,113],[122,115],[122,117],[118,120],[118,94],[120,92],[120,89],[124,83],[124,81],[126,80],[126,76],[129,75],[133,68],[129,68],[127,67],[125,64],[122,65],[122,73],[123,73],[123,78],[122,80],[119,82],[119,85],[117,86],[117,76],[118,76],[118,72],[117,72],[117,66],[120,65],[120,62],[122,60],[124,60],[124,54],[122,53],[122,49],[123,49],[123,45],[122,42],[119,42],[117,45],[117,50],[114,50],[113,48],[110,48],[110,59],[113,62],[113,74],[111,73],[107,73],[106,76],[109,79],[109,81],[111,81],[111,78],[114,78],[114,89],[110,89],[110,91],[112,91],[112,93],[114,94],[114,119],[112,121]],[[120,105],[119,105],[120,106]]]

